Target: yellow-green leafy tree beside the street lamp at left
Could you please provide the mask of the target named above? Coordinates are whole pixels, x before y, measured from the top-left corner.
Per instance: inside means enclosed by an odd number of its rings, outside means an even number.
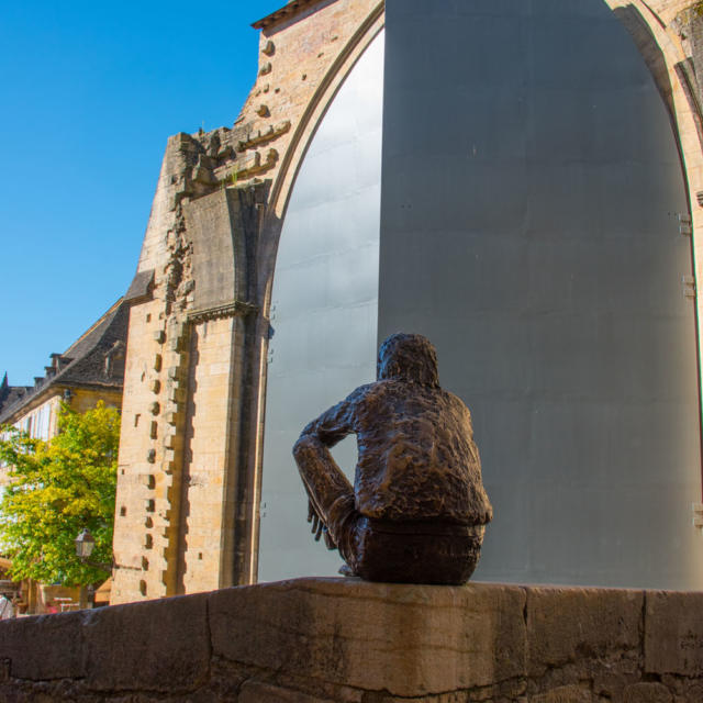
[[[112,561],[120,414],[100,402],[78,414],[66,406],[59,434],[48,443],[2,427],[0,462],[10,486],[0,502],[0,550],[14,579],[85,585],[105,572],[81,563],[74,539],[87,527],[96,539],[91,560]]]

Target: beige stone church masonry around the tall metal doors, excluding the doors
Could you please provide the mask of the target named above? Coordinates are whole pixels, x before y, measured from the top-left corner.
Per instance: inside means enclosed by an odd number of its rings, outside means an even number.
[[[682,284],[700,316],[698,4],[607,0],[650,69],[673,125],[690,201],[679,226],[692,238],[695,261]],[[315,132],[384,22],[378,0],[288,2],[254,25],[260,32],[258,76],[234,125],[168,140],[137,274],[125,295],[113,603],[257,579],[279,236]],[[424,178],[424,165],[416,168]]]

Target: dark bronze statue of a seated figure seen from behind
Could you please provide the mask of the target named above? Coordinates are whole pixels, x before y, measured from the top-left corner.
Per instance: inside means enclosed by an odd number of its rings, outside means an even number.
[[[339,550],[343,572],[368,581],[465,583],[492,517],[469,410],[439,388],[435,348],[421,335],[386,339],[377,377],[295,443],[313,532]],[[328,449],[352,433],[354,488]]]

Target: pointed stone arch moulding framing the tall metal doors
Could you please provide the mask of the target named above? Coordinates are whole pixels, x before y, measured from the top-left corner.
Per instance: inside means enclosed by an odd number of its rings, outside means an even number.
[[[688,76],[687,64],[689,59],[681,45],[680,37],[671,27],[671,21],[676,15],[672,7],[676,5],[678,10],[680,10],[687,3],[659,2],[647,4],[644,0],[604,1],[633,35],[635,44],[646,62],[668,109],[674,138],[679,147],[684,176],[683,180],[687,188],[692,230],[692,260],[694,265],[694,276],[698,279],[699,271],[701,270],[700,261],[703,259],[701,255],[701,247],[703,246],[703,215],[699,213],[699,208],[695,203],[696,193],[703,190],[703,149],[701,148],[700,132],[701,114],[696,107],[694,88],[692,89],[691,85],[687,86],[685,82]],[[690,4],[690,2],[688,4]],[[660,9],[658,5],[661,5],[663,9]],[[263,468],[260,448],[263,446],[264,398],[266,395],[266,334],[268,330],[278,242],[288,202],[294,189],[299,169],[327,108],[358,58],[383,26],[384,7],[383,3],[380,3],[353,34],[345,49],[341,52],[337,59],[332,64],[324,80],[308,102],[302,118],[294,129],[291,143],[283,155],[277,177],[271,185],[261,230],[263,255],[258,260],[258,298],[263,311],[260,319],[261,327],[257,335],[259,341],[258,368],[260,372],[257,409],[258,422],[256,423],[259,434],[257,442],[258,449],[255,453],[255,471],[256,483],[259,491],[258,496],[260,496]],[[684,217],[681,220],[681,226],[682,230],[685,230],[688,224],[685,221],[687,213],[681,214]],[[701,297],[696,293],[696,317],[701,315],[702,311],[703,304]],[[700,339],[700,336],[696,338]],[[699,342],[699,366],[700,347]],[[254,502],[256,503],[256,500]],[[255,522],[258,524],[258,521]],[[255,531],[257,531],[256,527]],[[256,554],[258,551],[256,539],[255,537],[255,540],[252,543],[250,554],[253,562],[256,560]],[[255,567],[253,567],[252,572],[256,573]]]

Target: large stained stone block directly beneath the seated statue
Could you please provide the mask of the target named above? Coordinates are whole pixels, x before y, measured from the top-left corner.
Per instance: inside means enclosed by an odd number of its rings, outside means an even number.
[[[214,656],[417,696],[524,676],[524,604],[518,587],[298,579],[214,592],[209,612]]]

